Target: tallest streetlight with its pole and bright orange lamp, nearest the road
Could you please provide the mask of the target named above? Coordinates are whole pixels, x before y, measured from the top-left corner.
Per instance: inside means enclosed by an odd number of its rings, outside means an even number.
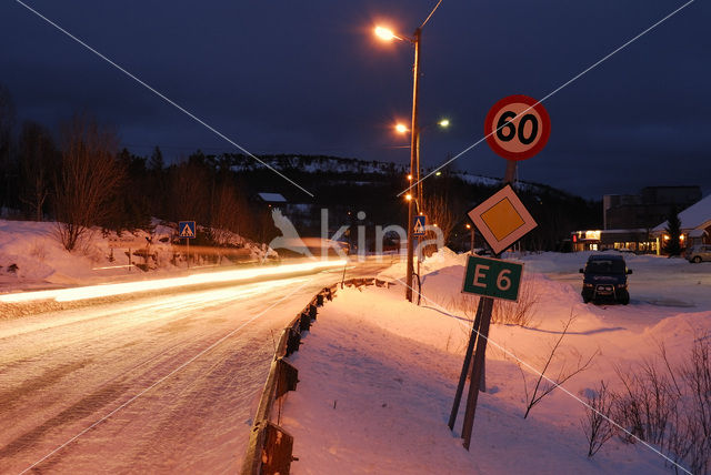
[[[422,39],[422,27],[430,20],[434,10],[440,6],[442,0],[440,0],[430,14],[424,19],[422,24],[414,30],[414,36],[412,38],[408,38],[404,36],[395,34],[391,29],[385,27],[375,27],[374,33],[378,38],[383,41],[392,41],[393,39],[398,40],[409,40],[414,46],[414,65],[412,68],[412,127],[411,138],[410,138],[410,174],[413,176],[420,178],[420,134],[418,129],[418,92],[420,84],[420,43]],[[414,173],[417,166],[417,174]],[[408,198],[409,196],[409,198]],[[405,299],[412,302],[412,277],[414,276],[414,246],[412,242],[412,228],[414,225],[414,213],[412,206],[412,195],[408,193],[408,270],[407,270],[407,285],[404,295]]]

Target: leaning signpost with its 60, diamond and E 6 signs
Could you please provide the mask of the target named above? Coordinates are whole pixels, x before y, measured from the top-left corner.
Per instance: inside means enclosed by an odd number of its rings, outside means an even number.
[[[533,156],[545,145],[550,134],[550,119],[540,102],[525,95],[511,95],[491,108],[484,121],[484,133],[493,151],[507,159],[507,171],[503,178],[504,188],[469,212],[470,219],[494,251],[497,259],[469,256],[462,284],[462,292],[481,295],[449,420],[449,426],[453,429],[473,351],[462,425],[463,446],[468,451],[477,400],[480,387],[483,386],[493,299],[515,301],[523,271],[522,264],[502,261],[499,257],[501,252],[537,226],[509,184],[513,183],[515,178],[515,161]]]

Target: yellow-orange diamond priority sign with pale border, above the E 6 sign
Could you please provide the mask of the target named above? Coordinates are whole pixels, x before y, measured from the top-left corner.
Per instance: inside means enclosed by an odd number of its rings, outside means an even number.
[[[538,225],[510,185],[471,210],[469,218],[497,254]]]

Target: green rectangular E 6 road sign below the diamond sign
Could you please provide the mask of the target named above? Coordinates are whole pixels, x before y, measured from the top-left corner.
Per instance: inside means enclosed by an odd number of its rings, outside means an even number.
[[[470,255],[462,292],[517,301],[523,264]]]

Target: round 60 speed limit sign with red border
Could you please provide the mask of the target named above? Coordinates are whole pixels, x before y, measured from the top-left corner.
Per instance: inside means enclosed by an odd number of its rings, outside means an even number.
[[[508,160],[525,160],[543,150],[551,134],[551,119],[533,98],[514,94],[489,110],[484,137],[489,146]]]

